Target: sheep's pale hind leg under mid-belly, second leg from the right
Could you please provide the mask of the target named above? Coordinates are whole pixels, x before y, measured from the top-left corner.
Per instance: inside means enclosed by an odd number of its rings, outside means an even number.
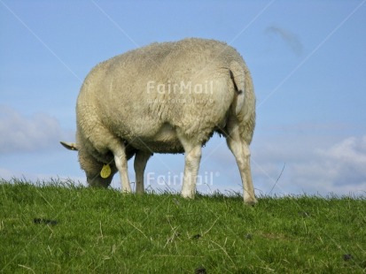
[[[180,137],[179,140],[182,142],[185,151],[182,196],[184,198],[194,199],[197,175],[199,173],[199,162],[201,160],[201,144],[193,145],[188,139],[183,137]]]

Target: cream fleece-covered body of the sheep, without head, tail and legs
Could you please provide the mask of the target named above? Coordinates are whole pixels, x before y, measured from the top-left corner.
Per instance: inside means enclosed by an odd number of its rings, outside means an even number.
[[[183,152],[175,131],[204,143],[214,129],[224,128],[236,97],[230,64],[241,65],[248,78],[235,49],[197,39],[153,43],[113,57],[85,80],[77,103],[78,124],[100,153],[115,137],[137,149]],[[246,105],[239,119],[254,110],[252,84],[246,81]]]

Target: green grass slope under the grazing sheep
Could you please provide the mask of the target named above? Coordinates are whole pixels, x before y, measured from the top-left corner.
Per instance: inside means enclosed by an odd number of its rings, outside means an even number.
[[[364,198],[121,194],[0,179],[0,272],[366,273]]]

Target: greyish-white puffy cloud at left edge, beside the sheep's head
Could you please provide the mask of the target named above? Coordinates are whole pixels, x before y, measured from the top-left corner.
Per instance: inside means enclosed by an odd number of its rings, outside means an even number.
[[[48,114],[30,117],[0,106],[0,153],[33,152],[58,146],[65,137],[58,120]],[[67,134],[68,135],[68,134]]]

